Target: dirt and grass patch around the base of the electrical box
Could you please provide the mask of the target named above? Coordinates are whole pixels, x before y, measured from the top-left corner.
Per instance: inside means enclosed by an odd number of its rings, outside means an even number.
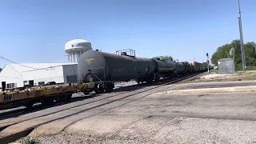
[[[236,74],[218,74],[217,70],[211,70],[210,74],[200,74],[198,77],[186,79],[179,83],[192,82],[226,82],[226,81],[254,81],[256,80],[256,71],[238,72]]]

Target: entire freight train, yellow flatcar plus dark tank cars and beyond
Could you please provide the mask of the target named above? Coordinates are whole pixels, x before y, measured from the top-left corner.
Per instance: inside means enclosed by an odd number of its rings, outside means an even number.
[[[43,106],[51,106],[54,103],[69,102],[74,93],[111,92],[114,89],[114,82],[128,82],[134,79],[138,84],[150,83],[160,78],[174,78],[207,69],[207,64],[198,62],[165,62],[160,59],[137,58],[134,50],[121,50],[117,51],[117,54],[89,50],[82,54],[78,61],[80,82],[2,91],[0,92],[0,110],[17,106],[30,108],[38,102]],[[213,69],[212,66],[210,66],[211,69]]]

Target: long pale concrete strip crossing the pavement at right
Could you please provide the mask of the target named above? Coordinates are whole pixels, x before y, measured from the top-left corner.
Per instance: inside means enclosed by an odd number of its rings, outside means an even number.
[[[252,92],[256,86],[234,86],[206,89],[169,90],[167,94],[198,94],[198,93],[223,93],[223,92]]]

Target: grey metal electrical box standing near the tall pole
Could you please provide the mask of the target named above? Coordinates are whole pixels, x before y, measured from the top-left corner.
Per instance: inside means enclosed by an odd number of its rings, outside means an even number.
[[[218,74],[234,74],[234,59],[223,58],[218,60]]]

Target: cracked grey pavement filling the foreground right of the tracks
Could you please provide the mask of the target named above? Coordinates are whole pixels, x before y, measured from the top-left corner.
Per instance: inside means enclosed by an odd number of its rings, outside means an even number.
[[[256,94],[150,94],[70,118],[42,143],[254,143]],[[96,112],[94,111],[94,112]],[[78,117],[78,118],[79,118]],[[66,126],[58,121],[48,130]],[[40,130],[40,129],[38,129]],[[35,133],[34,133],[35,134]],[[36,135],[36,134],[35,134]]]

